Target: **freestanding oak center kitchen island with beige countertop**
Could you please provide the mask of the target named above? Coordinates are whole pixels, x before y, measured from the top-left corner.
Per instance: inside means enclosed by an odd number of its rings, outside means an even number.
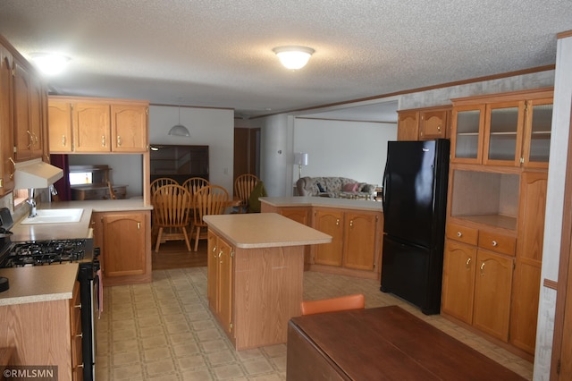
[[[237,350],[286,343],[299,316],[305,245],[332,241],[275,213],[205,216],[210,309]]]

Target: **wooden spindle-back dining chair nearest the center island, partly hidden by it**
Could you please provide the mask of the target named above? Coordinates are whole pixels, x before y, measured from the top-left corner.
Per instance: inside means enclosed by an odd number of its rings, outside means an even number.
[[[198,241],[207,238],[206,222],[203,221],[203,216],[223,215],[228,204],[229,192],[220,185],[207,185],[197,190],[193,199],[195,251],[198,250]]]

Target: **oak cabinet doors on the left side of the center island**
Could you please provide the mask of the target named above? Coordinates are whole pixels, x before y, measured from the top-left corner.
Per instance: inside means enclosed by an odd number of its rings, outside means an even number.
[[[232,334],[232,258],[233,250],[222,238],[208,232],[206,295],[209,308],[223,326]]]

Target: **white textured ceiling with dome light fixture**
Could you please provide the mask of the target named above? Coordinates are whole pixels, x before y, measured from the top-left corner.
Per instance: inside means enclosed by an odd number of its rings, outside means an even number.
[[[571,0],[2,0],[22,55],[71,57],[58,94],[248,118],[555,63]],[[315,54],[299,71],[273,47]]]

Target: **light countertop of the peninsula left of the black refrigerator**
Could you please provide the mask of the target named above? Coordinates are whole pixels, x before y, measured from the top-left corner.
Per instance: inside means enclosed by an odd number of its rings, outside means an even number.
[[[383,212],[380,201],[366,199],[334,199],[329,197],[294,196],[294,197],[261,197],[273,207],[338,207],[341,209],[372,210]]]

